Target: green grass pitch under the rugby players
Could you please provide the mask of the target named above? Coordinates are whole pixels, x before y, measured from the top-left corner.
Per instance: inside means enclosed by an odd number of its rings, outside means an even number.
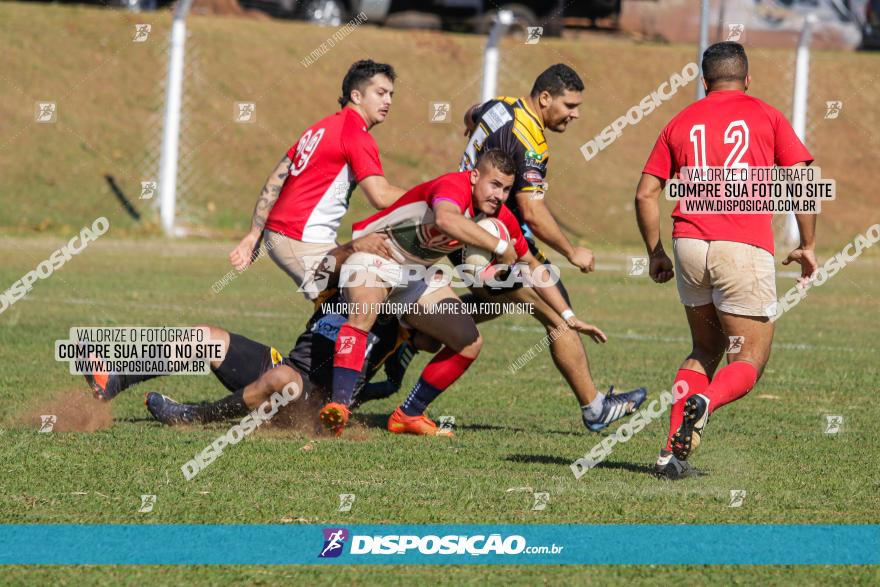
[[[51,238],[0,240],[0,283],[11,284],[54,250]],[[210,399],[223,389],[210,376],[168,377],[124,393],[112,403],[112,427],[92,433],[40,434],[24,414],[47,413],[59,394],[84,383],[53,360],[53,342],[71,326],[220,325],[281,349],[289,348],[309,313],[307,304],[270,261],[261,260],[220,294],[211,285],[227,271],[230,243],[114,240],[107,236],[74,257],[29,296],[0,315],[0,521],[5,523],[877,523],[880,442],[876,317],[880,273],[869,251],[777,323],[773,356],[747,398],[713,419],[692,462],[709,475],[669,484],[647,471],[662,444],[665,422],[618,445],[606,464],[575,480],[569,463],[599,440],[580,423],[575,400],[544,352],[511,378],[507,365],[543,333],[526,316],[482,327],[484,353],[437,400],[434,416],[453,415],[454,439],[401,438],[384,431],[400,397],[367,404],[356,438],[312,440],[291,430],[260,430],[227,449],[195,480],[180,465],[225,426],[166,428],[149,419],[144,390],[183,400]],[[566,271],[579,313],[602,326],[610,342],[590,345],[600,385],[646,385],[656,394],[689,350],[687,327],[671,285],[626,277],[625,251],[600,252],[610,269],[588,277]],[[637,251],[632,251],[638,254]],[[614,267],[618,267],[614,269]],[[780,277],[779,288],[791,278]],[[873,321],[873,328],[871,323]],[[405,387],[425,363],[409,370]],[[825,414],[841,414],[843,431],[824,434]],[[63,417],[63,416],[61,416]],[[310,450],[303,447],[310,445]],[[516,487],[548,491],[545,511]],[[729,508],[731,489],[748,492]],[[158,496],[154,511],[137,513],[140,495]],[[336,512],[339,493],[357,496]],[[658,547],[663,547],[658,545]],[[388,569],[350,569],[356,582],[400,582]],[[492,581],[487,569],[416,571],[450,581]],[[668,583],[699,573],[707,579],[784,584],[876,578],[872,569],[521,568],[523,583]],[[10,569],[8,580],[30,571]],[[40,576],[74,574],[41,570]],[[89,581],[174,583],[177,571],[135,568],[78,570]],[[201,568],[197,582],[233,578],[276,582],[288,568]],[[318,571],[302,571],[310,582]],[[409,573],[409,571],[408,571]],[[585,575],[585,576],[586,576]],[[412,575],[407,575],[412,576]],[[694,575],[695,577],[695,575]]]

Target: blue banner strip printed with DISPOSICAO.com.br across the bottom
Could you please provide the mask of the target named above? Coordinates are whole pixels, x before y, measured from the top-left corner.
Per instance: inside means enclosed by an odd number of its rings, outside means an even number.
[[[0,563],[875,565],[880,525],[6,524]]]

